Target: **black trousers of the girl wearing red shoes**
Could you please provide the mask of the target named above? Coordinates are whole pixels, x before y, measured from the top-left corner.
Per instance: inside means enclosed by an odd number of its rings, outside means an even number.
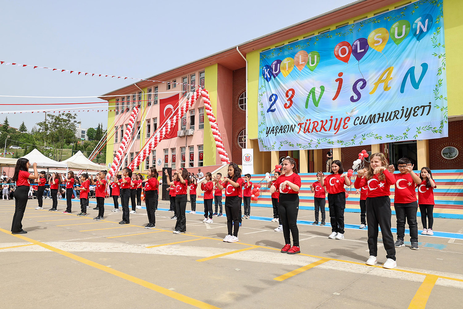
[[[297,228],[297,213],[299,212],[299,195],[280,193],[278,210],[282,219],[285,244],[291,244],[289,232],[293,235],[293,246],[299,247],[299,229]]]

